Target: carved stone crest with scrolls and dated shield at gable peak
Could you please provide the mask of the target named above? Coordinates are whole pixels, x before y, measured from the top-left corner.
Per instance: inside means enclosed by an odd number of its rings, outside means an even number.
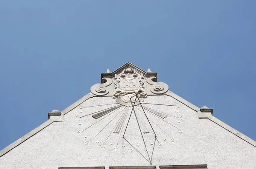
[[[112,96],[126,106],[131,106],[135,95],[143,101],[148,95],[165,95],[168,91],[167,84],[157,82],[157,73],[149,69],[146,72],[129,62],[112,73],[102,73],[102,83],[91,87],[94,96]]]

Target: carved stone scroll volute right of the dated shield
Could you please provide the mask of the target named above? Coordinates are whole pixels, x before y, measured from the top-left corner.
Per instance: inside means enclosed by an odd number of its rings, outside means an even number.
[[[156,77],[147,78],[148,95],[150,94],[165,94],[169,90],[169,86],[163,82],[155,82]]]

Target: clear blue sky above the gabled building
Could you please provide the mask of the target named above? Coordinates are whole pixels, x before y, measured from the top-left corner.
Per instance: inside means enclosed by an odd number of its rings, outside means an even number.
[[[256,140],[255,0],[1,0],[0,149],[126,62]],[[216,140],[218,141],[218,140]]]

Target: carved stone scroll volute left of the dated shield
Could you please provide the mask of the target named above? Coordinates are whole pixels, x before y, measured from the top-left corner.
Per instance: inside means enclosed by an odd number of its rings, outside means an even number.
[[[111,89],[111,84],[113,83],[111,78],[103,78],[102,84],[95,84],[90,88],[91,93],[96,96],[106,96],[109,94],[109,90]],[[109,89],[110,88],[110,89]]]

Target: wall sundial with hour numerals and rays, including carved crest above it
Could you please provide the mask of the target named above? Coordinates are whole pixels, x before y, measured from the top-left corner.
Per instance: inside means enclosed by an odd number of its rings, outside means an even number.
[[[180,127],[184,120],[183,113],[179,110],[180,105],[147,101],[151,95],[164,95],[169,91],[168,85],[155,82],[155,79],[145,77],[132,68],[126,68],[112,78],[102,78],[102,84],[93,85],[93,95],[110,96],[116,102],[79,106],[80,114],[76,116],[79,123],[75,131],[83,138],[83,144],[98,145],[100,151],[112,147],[113,151],[141,153],[140,150],[144,149],[148,154],[146,159],[151,163],[148,151],[153,153],[156,148],[164,149],[165,142],[177,142],[175,135],[183,133]],[[106,106],[107,108],[101,108]],[[88,107],[96,107],[97,111],[89,111]],[[159,110],[161,108],[165,111]],[[93,123],[87,124],[86,121],[83,122],[84,119]],[[93,127],[100,130],[95,135],[88,135],[87,131]],[[136,133],[135,138],[131,130]],[[100,137],[106,135],[107,131],[107,137]]]

